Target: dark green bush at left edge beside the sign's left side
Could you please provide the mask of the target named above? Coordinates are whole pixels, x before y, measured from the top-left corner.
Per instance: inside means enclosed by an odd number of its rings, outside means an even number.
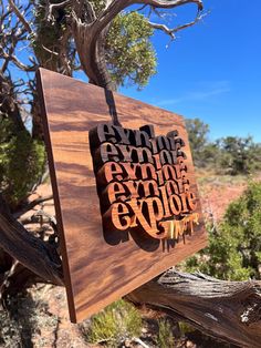
[[[44,165],[44,144],[27,130],[15,131],[10,120],[0,119],[0,191],[11,207],[27,198]]]

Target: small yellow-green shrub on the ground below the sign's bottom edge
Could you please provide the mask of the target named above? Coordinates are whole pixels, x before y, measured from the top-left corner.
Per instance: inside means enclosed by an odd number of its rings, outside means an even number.
[[[118,347],[126,339],[140,335],[142,317],[133,305],[121,299],[93,316],[91,324],[83,324],[81,330],[88,342]]]

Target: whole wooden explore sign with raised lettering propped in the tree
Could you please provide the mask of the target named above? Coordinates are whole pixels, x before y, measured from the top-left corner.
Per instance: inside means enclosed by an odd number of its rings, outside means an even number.
[[[181,116],[48,70],[38,78],[79,323],[205,247],[206,231]]]

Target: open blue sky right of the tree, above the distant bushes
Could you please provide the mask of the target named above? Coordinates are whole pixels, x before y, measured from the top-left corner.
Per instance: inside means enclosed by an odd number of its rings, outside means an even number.
[[[201,23],[169,38],[157,33],[157,74],[121,93],[210,125],[210,139],[253,135],[261,142],[261,0],[205,0]],[[174,23],[192,18],[179,9]]]

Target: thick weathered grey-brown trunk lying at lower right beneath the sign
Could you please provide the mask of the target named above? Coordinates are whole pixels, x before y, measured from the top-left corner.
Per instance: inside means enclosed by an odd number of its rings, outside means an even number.
[[[169,269],[126,298],[161,309],[223,341],[261,347],[261,282],[223,282]]]

